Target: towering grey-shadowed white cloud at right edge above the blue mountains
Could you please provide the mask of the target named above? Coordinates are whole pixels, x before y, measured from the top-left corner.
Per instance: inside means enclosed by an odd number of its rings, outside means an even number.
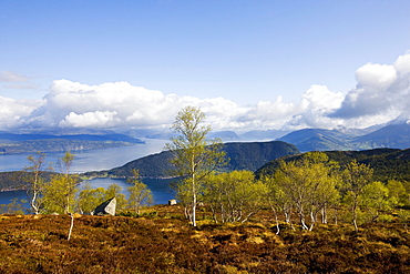
[[[410,54],[397,59],[393,65],[367,63],[356,71],[358,84],[345,98],[330,118],[371,125],[377,118],[383,123],[410,108]],[[356,121],[353,121],[356,120]]]

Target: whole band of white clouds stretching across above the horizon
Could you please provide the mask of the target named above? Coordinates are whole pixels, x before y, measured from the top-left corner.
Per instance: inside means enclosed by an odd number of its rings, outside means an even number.
[[[410,53],[400,55],[393,64],[367,63],[356,71],[356,88],[346,94],[314,84],[299,102],[285,102],[278,97],[254,105],[239,105],[224,98],[164,94],[127,82],[88,85],[55,80],[42,100],[0,97],[0,130],[168,129],[185,105],[199,106],[214,130],[365,128],[410,109]],[[17,73],[0,73],[0,82],[24,80]]]

